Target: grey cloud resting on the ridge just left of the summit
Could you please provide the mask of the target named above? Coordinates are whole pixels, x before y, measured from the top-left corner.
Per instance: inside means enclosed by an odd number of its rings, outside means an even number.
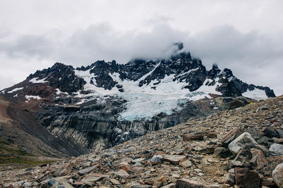
[[[186,37],[186,32],[173,30],[166,24],[158,24],[149,32],[125,33],[115,31],[108,24],[91,25],[67,39],[59,58],[75,64],[97,59],[127,63],[132,58],[161,58],[170,55],[166,49],[172,42]]]

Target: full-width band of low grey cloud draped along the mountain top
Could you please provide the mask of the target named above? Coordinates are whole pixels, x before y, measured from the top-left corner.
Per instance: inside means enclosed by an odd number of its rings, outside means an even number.
[[[9,66],[15,69],[20,58],[21,62],[32,59],[31,62],[50,65],[59,61],[77,67],[103,59],[127,63],[132,58],[168,57],[171,55],[168,47],[173,42],[184,42],[185,49],[191,51],[192,56],[201,58],[208,69],[212,63],[218,63],[220,68],[231,68],[245,82],[267,85],[274,88],[276,94],[283,93],[280,81],[282,32],[272,36],[257,30],[241,32],[233,25],[219,25],[191,35],[188,30],[171,27],[167,20],[162,16],[157,21],[149,20],[156,24],[148,31],[121,32],[108,23],[100,23],[76,30],[67,37],[59,30],[52,30],[43,35],[0,39],[0,54],[4,54],[6,62],[11,62]],[[29,66],[33,64],[29,63]]]

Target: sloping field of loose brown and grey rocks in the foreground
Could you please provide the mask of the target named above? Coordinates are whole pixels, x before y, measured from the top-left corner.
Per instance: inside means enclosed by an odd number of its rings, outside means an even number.
[[[283,96],[111,149],[0,173],[0,187],[283,187]]]

